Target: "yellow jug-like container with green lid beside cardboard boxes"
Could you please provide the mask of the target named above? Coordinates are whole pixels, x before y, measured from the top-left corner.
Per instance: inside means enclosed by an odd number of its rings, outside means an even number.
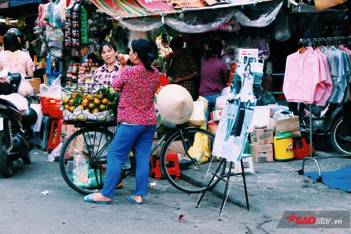
[[[274,155],[279,162],[294,160],[294,146],[290,133],[280,132],[274,136]]]

